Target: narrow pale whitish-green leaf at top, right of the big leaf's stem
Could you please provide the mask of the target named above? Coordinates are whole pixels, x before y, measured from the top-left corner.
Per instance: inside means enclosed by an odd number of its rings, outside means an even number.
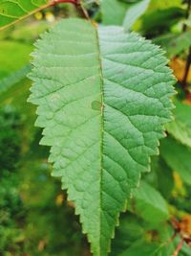
[[[127,10],[123,20],[123,26],[126,31],[130,30],[134,23],[138,20],[138,17],[140,17],[146,11],[149,2],[150,0],[139,1]]]

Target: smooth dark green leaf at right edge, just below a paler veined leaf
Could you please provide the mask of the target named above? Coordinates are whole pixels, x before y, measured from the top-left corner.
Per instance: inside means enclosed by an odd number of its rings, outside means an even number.
[[[161,140],[160,153],[182,180],[191,185],[191,150],[169,136]]]

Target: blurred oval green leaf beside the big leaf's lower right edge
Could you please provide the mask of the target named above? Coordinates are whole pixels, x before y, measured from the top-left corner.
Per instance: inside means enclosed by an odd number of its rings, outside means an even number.
[[[169,218],[167,203],[159,192],[144,181],[135,189],[132,208],[138,216],[150,223],[157,224]]]

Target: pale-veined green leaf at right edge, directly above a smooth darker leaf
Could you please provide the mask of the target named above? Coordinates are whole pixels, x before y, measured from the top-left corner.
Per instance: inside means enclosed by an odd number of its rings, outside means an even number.
[[[191,147],[191,105],[175,102],[175,121],[166,125],[167,131],[182,144]]]

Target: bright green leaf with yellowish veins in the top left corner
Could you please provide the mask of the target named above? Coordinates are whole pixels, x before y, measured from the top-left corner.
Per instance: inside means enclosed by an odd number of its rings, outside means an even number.
[[[0,30],[46,6],[49,0],[2,0],[0,3]]]

